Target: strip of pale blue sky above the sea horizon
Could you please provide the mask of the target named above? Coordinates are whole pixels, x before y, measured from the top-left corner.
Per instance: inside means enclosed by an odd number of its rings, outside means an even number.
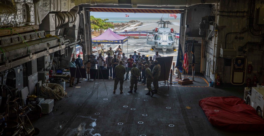
[[[125,14],[129,15],[129,17],[168,17],[168,14],[163,13],[116,13],[116,12],[90,12],[91,16],[94,16],[95,18],[98,17],[125,17]],[[176,14],[180,18],[181,14]]]

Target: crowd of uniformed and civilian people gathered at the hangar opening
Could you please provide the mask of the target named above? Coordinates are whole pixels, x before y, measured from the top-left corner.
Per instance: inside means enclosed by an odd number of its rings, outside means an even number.
[[[120,46],[117,49],[121,49]],[[124,81],[129,80],[130,76],[130,91],[129,93],[136,92],[138,82],[142,82],[143,85],[147,85],[149,90],[146,95],[153,96],[154,93],[158,91],[158,77],[160,75],[161,66],[156,60],[157,57],[161,57],[156,51],[155,55],[152,57],[146,57],[145,55],[137,54],[134,51],[134,55],[130,54],[129,58],[125,56],[125,53],[122,53],[120,56],[119,53],[114,53],[111,49],[106,51],[107,57],[105,58],[105,68],[108,70],[108,76],[110,79],[115,79],[114,83],[114,93],[117,89],[117,84],[120,83],[120,93],[123,93],[123,83]],[[98,59],[103,58],[101,54],[97,57]],[[153,59],[152,59],[153,58]],[[103,59],[102,59],[103,60]],[[101,67],[99,63],[97,67]],[[153,82],[154,91],[152,91],[151,84]]]

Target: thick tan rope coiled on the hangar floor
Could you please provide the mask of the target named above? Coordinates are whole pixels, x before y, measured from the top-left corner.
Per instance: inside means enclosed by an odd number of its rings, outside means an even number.
[[[39,97],[61,100],[65,96],[64,88],[59,84],[45,83],[40,87]]]

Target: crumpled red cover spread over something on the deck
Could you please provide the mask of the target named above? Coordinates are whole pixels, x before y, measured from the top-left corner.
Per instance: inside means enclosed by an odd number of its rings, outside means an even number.
[[[264,120],[257,116],[256,110],[241,98],[208,97],[201,99],[199,105],[209,122],[228,131],[264,131]],[[219,111],[218,111],[219,110]]]

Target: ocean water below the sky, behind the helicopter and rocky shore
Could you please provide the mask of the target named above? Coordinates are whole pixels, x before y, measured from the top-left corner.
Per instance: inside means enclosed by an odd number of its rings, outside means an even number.
[[[160,18],[143,18],[143,17],[100,17],[101,19],[109,19],[107,20],[107,22],[114,22],[114,23],[125,23],[125,22],[129,22],[131,20],[137,20],[140,22],[143,22],[143,25],[145,24],[153,24],[153,25],[147,25],[147,26],[143,26],[138,28],[137,30],[152,30],[155,29],[156,27],[158,27],[158,24],[154,24],[155,22],[159,21]],[[168,17],[163,17],[164,20],[169,20],[171,22],[177,22],[180,23],[180,18],[176,18],[174,19],[173,17],[170,17],[168,19]],[[159,26],[160,27],[160,26]],[[180,32],[180,26],[176,26],[176,25],[169,25],[168,27],[173,28],[176,32]]]

